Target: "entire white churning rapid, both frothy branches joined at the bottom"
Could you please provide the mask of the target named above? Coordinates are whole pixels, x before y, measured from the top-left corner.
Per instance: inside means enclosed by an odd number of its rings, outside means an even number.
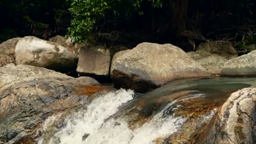
[[[38,144],[154,144],[157,138],[165,138],[176,132],[185,119],[181,117],[155,116],[141,127],[131,130],[127,120],[111,118],[125,102],[133,99],[134,92],[120,89],[94,99],[86,110],[66,119],[66,126],[50,140],[43,138]],[[49,117],[48,123],[58,116]]]

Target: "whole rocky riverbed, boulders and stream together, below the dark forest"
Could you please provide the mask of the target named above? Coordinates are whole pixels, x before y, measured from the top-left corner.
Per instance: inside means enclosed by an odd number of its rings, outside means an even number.
[[[127,49],[61,36],[1,43],[0,144],[256,143],[255,51]]]

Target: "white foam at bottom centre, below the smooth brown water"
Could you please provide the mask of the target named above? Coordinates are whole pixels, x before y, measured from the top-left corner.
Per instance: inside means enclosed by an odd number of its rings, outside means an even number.
[[[176,132],[184,121],[180,117],[150,120],[132,131],[124,120],[111,119],[89,135],[84,144],[153,144],[155,139]]]

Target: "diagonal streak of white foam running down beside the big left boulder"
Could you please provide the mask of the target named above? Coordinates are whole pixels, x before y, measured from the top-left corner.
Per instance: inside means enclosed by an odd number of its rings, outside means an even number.
[[[55,140],[59,139],[60,144],[82,144],[85,134],[95,133],[105,119],[117,112],[121,104],[133,99],[133,94],[131,90],[120,89],[96,98],[85,112],[78,112],[69,118],[66,127],[56,133],[49,143],[54,144]]]

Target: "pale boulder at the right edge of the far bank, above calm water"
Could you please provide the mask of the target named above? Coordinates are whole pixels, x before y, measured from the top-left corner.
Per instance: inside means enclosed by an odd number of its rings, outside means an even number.
[[[256,76],[256,50],[224,64],[222,76]]]

